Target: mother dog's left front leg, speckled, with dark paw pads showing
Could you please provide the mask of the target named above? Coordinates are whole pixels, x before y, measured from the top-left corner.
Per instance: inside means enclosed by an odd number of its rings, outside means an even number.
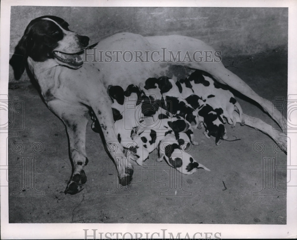
[[[61,100],[48,102],[48,107],[66,126],[69,153],[72,160],[72,176],[64,193],[75,194],[83,190],[82,184],[87,181],[83,168],[88,164],[85,147],[88,108],[83,105],[65,103]]]

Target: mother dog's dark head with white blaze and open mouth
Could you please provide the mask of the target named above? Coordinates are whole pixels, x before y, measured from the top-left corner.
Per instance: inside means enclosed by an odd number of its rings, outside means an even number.
[[[77,53],[88,46],[89,37],[70,31],[68,26],[66,21],[56,16],[32,20],[10,59],[15,78],[19,79],[24,72],[28,57],[35,62],[54,59],[60,65],[79,68],[83,60]]]

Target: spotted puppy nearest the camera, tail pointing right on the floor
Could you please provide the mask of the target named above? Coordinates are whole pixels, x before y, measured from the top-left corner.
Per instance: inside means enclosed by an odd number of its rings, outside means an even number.
[[[171,167],[183,174],[193,174],[199,168],[210,171],[204,165],[196,162],[193,157],[187,153],[190,145],[187,134],[181,132],[176,134],[167,134],[159,144],[157,161],[164,159]]]

